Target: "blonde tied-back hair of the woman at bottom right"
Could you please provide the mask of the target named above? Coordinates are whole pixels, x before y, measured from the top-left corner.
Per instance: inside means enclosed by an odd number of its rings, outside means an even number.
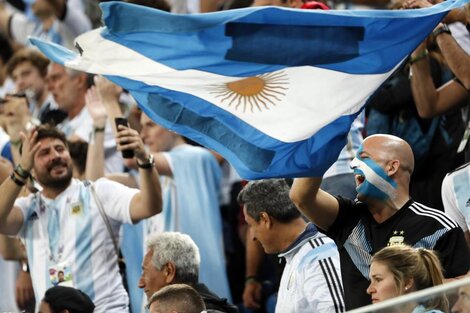
[[[437,254],[424,248],[414,249],[407,245],[385,247],[378,251],[372,262],[380,262],[388,267],[395,279],[397,291],[405,294],[405,285],[410,279],[416,290],[421,290],[444,282],[441,262]],[[421,303],[426,309],[449,311],[449,302],[443,295]]]

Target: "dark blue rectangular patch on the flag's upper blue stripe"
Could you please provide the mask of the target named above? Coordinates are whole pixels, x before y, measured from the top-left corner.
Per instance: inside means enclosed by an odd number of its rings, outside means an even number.
[[[225,55],[228,60],[302,66],[356,58],[364,28],[228,23],[225,35],[232,37],[232,48]]]

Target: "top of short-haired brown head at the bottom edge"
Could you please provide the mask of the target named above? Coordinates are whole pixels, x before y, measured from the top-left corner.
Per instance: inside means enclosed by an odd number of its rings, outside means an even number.
[[[184,284],[163,287],[153,294],[148,307],[150,313],[201,313],[206,309],[197,291]]]

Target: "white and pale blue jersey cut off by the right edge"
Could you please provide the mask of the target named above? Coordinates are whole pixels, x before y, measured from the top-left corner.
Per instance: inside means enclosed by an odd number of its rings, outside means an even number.
[[[442,181],[444,210],[463,231],[470,227],[470,163],[447,174]]]

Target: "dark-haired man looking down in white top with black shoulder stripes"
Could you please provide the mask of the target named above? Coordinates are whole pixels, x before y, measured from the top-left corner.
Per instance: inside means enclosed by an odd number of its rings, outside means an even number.
[[[301,217],[283,179],[250,182],[238,195],[253,240],[286,260],[276,313],[343,312],[338,248]]]

